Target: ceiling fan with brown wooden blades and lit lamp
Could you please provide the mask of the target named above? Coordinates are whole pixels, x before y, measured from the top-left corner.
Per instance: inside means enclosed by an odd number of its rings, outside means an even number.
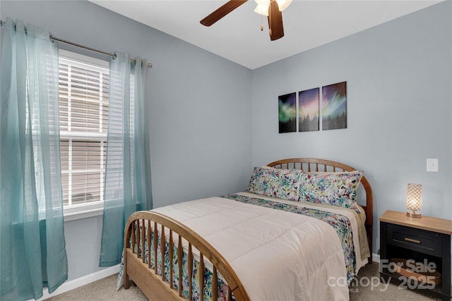
[[[217,10],[210,13],[206,18],[200,21],[202,25],[210,26],[217,22],[224,16],[226,16],[235,8],[241,6],[248,0],[230,0],[225,4],[220,6]],[[270,40],[280,39],[284,37],[284,27],[283,27],[283,14],[282,11],[289,6],[292,0],[255,0],[257,3],[254,11],[261,14],[262,16],[267,16],[268,19],[268,34],[270,35]],[[261,30],[263,30],[263,24],[261,24]]]

